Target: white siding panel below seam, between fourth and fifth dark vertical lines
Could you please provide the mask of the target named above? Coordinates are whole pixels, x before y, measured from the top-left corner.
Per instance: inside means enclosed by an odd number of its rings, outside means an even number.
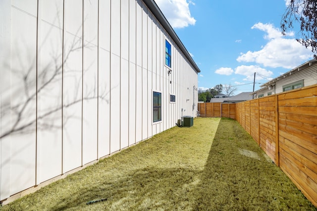
[[[100,49],[99,57],[98,157],[101,158],[110,154],[110,53]]]

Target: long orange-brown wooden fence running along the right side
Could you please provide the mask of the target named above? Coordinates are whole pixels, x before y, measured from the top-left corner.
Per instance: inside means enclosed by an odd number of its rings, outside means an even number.
[[[317,206],[317,85],[237,103],[236,120]]]

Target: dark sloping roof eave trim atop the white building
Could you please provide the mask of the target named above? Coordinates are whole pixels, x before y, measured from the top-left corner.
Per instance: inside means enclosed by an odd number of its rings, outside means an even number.
[[[173,28],[170,26],[168,21],[166,20],[163,13],[160,11],[159,6],[156,4],[154,0],[143,0],[143,2],[149,7],[151,12],[155,15],[155,17],[159,20],[159,23],[164,27],[166,32],[171,36],[174,42],[178,45],[178,47],[181,49],[181,51],[184,53],[186,58],[190,61],[190,63],[194,66],[197,73],[200,73],[200,69],[198,68],[197,64],[191,57],[191,55],[188,53],[187,49],[185,48],[184,44],[180,41],[178,36],[176,35]]]

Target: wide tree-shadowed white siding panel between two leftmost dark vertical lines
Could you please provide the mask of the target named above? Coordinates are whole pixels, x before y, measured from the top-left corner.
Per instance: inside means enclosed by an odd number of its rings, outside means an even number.
[[[53,3],[52,3],[53,2]],[[61,174],[62,164],[62,0],[40,1],[37,183]],[[51,25],[51,24],[58,24]]]

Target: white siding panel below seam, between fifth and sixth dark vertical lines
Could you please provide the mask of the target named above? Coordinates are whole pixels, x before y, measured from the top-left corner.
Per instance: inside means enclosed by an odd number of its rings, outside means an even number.
[[[120,150],[120,57],[110,56],[110,153]]]

